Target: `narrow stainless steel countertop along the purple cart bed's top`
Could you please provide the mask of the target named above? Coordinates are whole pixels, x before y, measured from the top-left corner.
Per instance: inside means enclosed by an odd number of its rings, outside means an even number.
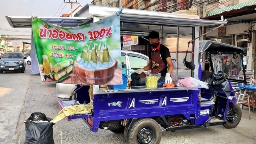
[[[203,88],[202,86],[190,87],[174,87],[174,88],[145,88],[144,86],[131,87],[130,89],[110,89],[110,88],[100,88],[99,92],[96,94],[111,94],[111,93],[130,93],[130,92],[156,92],[156,91],[178,91],[178,90],[198,90]]]

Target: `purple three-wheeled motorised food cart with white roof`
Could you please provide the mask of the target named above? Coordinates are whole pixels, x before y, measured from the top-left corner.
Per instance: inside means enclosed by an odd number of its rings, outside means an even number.
[[[201,80],[200,53],[207,55],[210,64],[211,54],[232,52],[238,58],[243,56],[241,48],[231,45],[209,41],[200,44],[200,26],[219,26],[226,24],[224,20],[200,20],[198,16],[192,15],[132,9],[123,9],[121,12],[119,8],[94,5],[84,6],[75,16],[91,18],[83,23],[88,24],[116,12],[120,13],[121,35],[144,37],[151,30],[160,33],[161,43],[169,48],[171,57],[177,60],[172,73],[173,80],[184,77]],[[190,47],[188,42],[192,43]],[[194,59],[194,70],[183,64],[187,48],[187,60]],[[124,133],[131,144],[158,144],[161,139],[160,126],[172,132],[220,124],[226,128],[236,127],[242,115],[239,106],[235,104],[236,98],[229,80],[227,74],[217,72],[210,77],[209,89],[202,86],[111,89],[97,85],[91,89],[89,86],[78,85],[77,100],[61,100],[58,103],[61,108],[91,103],[93,109],[89,114],[76,114],[68,116],[68,119],[82,118],[92,132],[106,129]],[[244,81],[239,82],[246,85]]]

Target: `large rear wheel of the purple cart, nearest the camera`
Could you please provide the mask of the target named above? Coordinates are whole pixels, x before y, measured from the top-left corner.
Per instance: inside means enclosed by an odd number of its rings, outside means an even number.
[[[129,144],[159,144],[161,130],[158,123],[152,118],[137,120],[130,131],[128,131]]]

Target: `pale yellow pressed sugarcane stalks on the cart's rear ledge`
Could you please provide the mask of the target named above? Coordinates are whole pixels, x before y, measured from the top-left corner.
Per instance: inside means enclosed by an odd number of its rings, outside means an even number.
[[[66,106],[50,122],[56,123],[65,118],[65,116],[72,116],[74,114],[88,114],[91,112],[92,107],[92,104],[78,104],[74,106]]]

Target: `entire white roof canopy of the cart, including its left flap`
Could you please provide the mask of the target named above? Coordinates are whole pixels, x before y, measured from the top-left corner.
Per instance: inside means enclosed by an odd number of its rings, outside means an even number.
[[[106,17],[120,11],[120,8],[108,6],[86,5],[79,10],[76,17],[38,17],[46,22],[63,26],[75,27],[93,22],[92,17]],[[31,16],[6,16],[13,28],[31,28]],[[225,21],[200,20],[196,15],[174,14],[148,10],[133,10],[124,8],[120,14],[121,22],[134,22],[140,24],[156,24],[171,26],[211,26],[226,24]]]

